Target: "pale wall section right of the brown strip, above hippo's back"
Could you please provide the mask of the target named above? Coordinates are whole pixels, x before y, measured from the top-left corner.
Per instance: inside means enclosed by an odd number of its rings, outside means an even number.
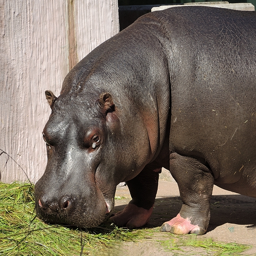
[[[99,44],[119,32],[117,0],[75,1],[76,47],[82,60]]]

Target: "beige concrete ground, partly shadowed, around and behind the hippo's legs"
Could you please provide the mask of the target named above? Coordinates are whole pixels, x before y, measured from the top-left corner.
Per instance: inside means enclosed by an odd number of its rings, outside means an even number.
[[[122,210],[130,201],[130,193],[127,188],[117,188],[115,211]],[[167,170],[160,175],[156,202],[150,222],[144,226],[148,228],[159,227],[165,221],[174,218],[180,211],[182,201],[179,197],[178,185]],[[156,234],[155,234],[156,233]],[[158,240],[168,239],[164,232],[154,233],[156,239],[140,243],[126,243],[122,248],[122,254],[115,255],[211,255],[199,248],[186,247],[182,254],[166,252]],[[214,186],[211,201],[211,218],[206,234],[202,238],[212,238],[218,242],[236,242],[252,246],[251,249],[236,255],[256,256],[256,198],[242,196]],[[185,254],[184,254],[185,253]],[[113,254],[114,255],[114,254]],[[219,254],[218,254],[219,255]],[[234,254],[225,254],[234,255]]]

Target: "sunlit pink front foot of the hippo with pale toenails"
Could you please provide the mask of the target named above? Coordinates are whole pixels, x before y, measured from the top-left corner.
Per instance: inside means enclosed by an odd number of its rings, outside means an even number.
[[[160,231],[170,232],[173,234],[204,234],[205,230],[200,228],[198,225],[193,225],[189,218],[182,218],[178,214],[175,218],[162,224]]]

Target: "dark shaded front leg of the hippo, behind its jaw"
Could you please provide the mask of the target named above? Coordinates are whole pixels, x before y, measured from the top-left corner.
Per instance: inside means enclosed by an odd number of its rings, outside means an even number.
[[[132,200],[121,212],[110,218],[117,226],[139,228],[148,223],[158,188],[160,166],[148,164],[132,180],[127,181]]]

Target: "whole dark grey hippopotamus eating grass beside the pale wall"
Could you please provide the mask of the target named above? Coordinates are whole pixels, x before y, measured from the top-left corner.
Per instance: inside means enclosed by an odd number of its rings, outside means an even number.
[[[43,130],[35,185],[48,223],[144,226],[161,168],[183,205],[160,231],[204,234],[214,184],[256,197],[256,14],[203,6],[148,13],[67,74]],[[111,216],[116,186],[132,200]],[[178,209],[177,209],[178,210]]]

